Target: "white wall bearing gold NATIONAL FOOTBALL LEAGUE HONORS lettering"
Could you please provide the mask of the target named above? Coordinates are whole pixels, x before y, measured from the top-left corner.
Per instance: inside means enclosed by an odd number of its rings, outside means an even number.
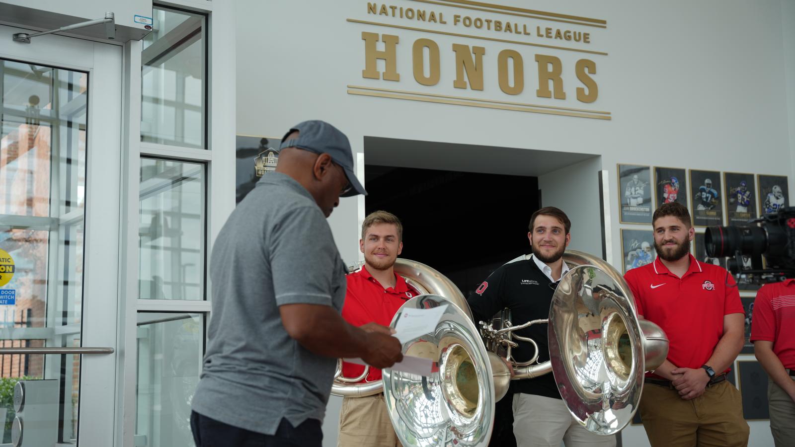
[[[592,49],[607,52],[607,56],[588,56],[598,64],[594,79],[599,84],[599,99],[595,103],[578,103],[573,99],[573,89],[580,84],[571,71],[579,54],[347,21],[348,18],[390,21],[432,28],[428,24],[368,16],[366,2],[360,0],[238,0],[238,134],[279,135],[301,120],[326,119],[347,133],[356,152],[363,152],[365,136],[376,136],[482,145],[487,146],[484,154],[488,154],[488,146],[502,146],[598,155],[594,161],[582,162],[571,170],[592,175],[592,184],[587,176],[578,177],[570,186],[570,193],[560,189],[560,196],[555,196],[550,189],[556,189],[560,179],[554,173],[542,176],[539,181],[546,204],[565,204],[567,210],[576,209],[573,224],[578,231],[575,235],[580,238],[579,231],[598,227],[598,214],[591,215],[582,208],[591,204],[598,207],[598,196],[597,200],[584,204],[578,201],[574,188],[595,191],[598,186],[595,170],[607,169],[611,175],[611,196],[607,200],[611,200],[614,253],[621,250],[616,163],[792,177],[795,171],[793,0],[607,3],[538,0],[532,6],[519,0],[501,3],[607,20],[607,29],[593,30],[591,44]],[[442,10],[448,21],[456,10],[456,7],[409,0],[388,4]],[[528,22],[536,23],[530,19]],[[567,26],[557,22],[539,24]],[[464,31],[449,25],[445,29]],[[399,82],[363,79],[363,31],[400,37]],[[411,45],[420,37],[430,38],[440,46],[442,78],[433,87],[421,86],[413,79]],[[518,37],[502,38],[518,40]],[[452,87],[453,43],[486,48],[484,91]],[[494,65],[502,49],[516,49],[525,60],[525,91],[517,97],[505,95],[497,87]],[[534,95],[535,53],[559,56],[564,61],[568,95],[564,102]],[[383,70],[382,63],[378,69]],[[350,84],[588,108],[610,111],[612,119],[349,95],[346,86]],[[792,195],[795,192],[792,178],[789,183]],[[345,199],[330,220],[340,252],[349,263],[357,256],[356,213],[356,200]],[[594,245],[591,250],[599,254],[601,247]],[[329,422],[326,429],[332,425],[335,422]],[[764,434],[766,423],[751,422],[751,426],[751,445],[768,445],[769,433]],[[642,429],[630,427],[625,437],[642,439],[642,431],[638,430]],[[325,433],[327,440],[333,437],[331,431]],[[333,445],[332,441],[327,442]],[[633,441],[631,445],[636,444]],[[638,445],[642,442],[638,441]]]

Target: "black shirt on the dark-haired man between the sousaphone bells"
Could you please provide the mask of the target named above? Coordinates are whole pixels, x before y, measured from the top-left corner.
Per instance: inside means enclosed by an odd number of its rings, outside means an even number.
[[[532,258],[511,262],[494,270],[471,294],[467,303],[475,325],[478,321],[489,321],[495,313],[505,308],[511,311],[511,324],[522,325],[530,320],[549,318],[549,305],[552,303],[556,285],[556,282],[551,282],[538,268]],[[532,325],[515,333],[529,337],[538,344],[541,351],[538,355],[539,362],[549,360],[546,324]],[[522,341],[518,344],[519,347],[513,350],[514,359],[519,362],[529,360],[533,356],[533,345]],[[551,372],[535,379],[512,380],[510,393],[560,398],[560,391],[557,390]]]

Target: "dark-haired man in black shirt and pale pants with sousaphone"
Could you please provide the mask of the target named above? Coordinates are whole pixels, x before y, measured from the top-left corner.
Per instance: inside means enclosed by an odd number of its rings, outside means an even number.
[[[548,318],[557,282],[568,272],[563,252],[572,239],[571,227],[566,213],[558,208],[546,207],[534,212],[527,233],[533,256],[494,270],[472,293],[467,302],[475,322],[488,321],[505,308],[511,311],[513,325]],[[539,362],[549,360],[546,325],[532,325],[517,333],[538,344]],[[514,357],[526,361],[533,352],[532,345],[520,341]],[[518,447],[557,446],[560,441],[566,447],[615,445],[615,436],[591,433],[572,418],[552,374],[514,380],[509,395],[514,400],[514,435]]]

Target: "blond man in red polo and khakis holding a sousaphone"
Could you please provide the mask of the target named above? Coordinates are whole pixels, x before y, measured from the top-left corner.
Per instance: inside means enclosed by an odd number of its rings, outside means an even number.
[[[403,250],[403,226],[397,216],[385,211],[370,213],[362,223],[359,250],[364,253],[364,266],[362,270],[347,275],[343,318],[354,326],[367,323],[388,326],[397,309],[420,294],[394,273],[395,260]],[[359,377],[363,372],[361,365],[343,363],[345,377]],[[370,367],[364,381],[379,379],[381,370]],[[343,398],[338,447],[400,445],[386,412],[383,393]]]

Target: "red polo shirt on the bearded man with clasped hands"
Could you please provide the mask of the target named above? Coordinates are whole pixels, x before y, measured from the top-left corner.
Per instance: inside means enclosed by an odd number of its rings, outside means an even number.
[[[707,363],[723,336],[723,316],[744,312],[735,278],[720,266],[689,256],[690,268],[682,278],[660,258],[629,270],[624,278],[638,315],[668,335],[668,360],[695,369]]]

